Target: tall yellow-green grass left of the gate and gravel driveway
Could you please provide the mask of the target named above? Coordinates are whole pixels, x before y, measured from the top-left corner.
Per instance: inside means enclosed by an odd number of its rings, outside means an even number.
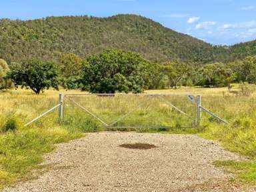
[[[33,95],[18,90],[0,93],[0,189],[31,176],[43,154],[56,143],[82,137],[75,127],[59,125],[57,111],[29,127],[25,123],[57,104],[57,92]]]

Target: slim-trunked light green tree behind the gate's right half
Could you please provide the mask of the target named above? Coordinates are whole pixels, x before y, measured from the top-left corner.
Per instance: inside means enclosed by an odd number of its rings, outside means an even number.
[[[177,88],[177,85],[187,75],[187,64],[181,61],[171,61],[163,63],[163,73],[167,76],[167,87]]]

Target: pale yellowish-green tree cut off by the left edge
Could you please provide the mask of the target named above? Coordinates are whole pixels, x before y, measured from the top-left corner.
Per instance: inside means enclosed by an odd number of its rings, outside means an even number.
[[[11,81],[9,81],[9,79],[5,78],[8,71],[9,71],[9,67],[8,67],[6,61],[3,59],[0,59],[0,90],[8,89],[8,88],[12,87]]]

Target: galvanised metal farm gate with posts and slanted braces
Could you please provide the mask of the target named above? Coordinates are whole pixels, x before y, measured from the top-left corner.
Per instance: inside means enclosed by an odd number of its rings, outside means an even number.
[[[95,119],[104,127],[200,127],[202,112],[228,124],[227,121],[201,106],[200,95],[81,93],[60,94],[58,105],[39,115],[25,126],[31,125],[57,108],[59,109],[59,119],[62,121],[65,113],[72,115],[72,113],[77,112],[75,107],[81,109],[87,116]],[[81,115],[80,112],[79,115]],[[185,124],[182,124],[184,122]]]

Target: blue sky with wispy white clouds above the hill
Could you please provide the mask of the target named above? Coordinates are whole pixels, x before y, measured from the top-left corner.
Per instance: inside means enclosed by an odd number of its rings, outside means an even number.
[[[255,0],[1,0],[0,18],[133,13],[215,45],[256,39]]]

